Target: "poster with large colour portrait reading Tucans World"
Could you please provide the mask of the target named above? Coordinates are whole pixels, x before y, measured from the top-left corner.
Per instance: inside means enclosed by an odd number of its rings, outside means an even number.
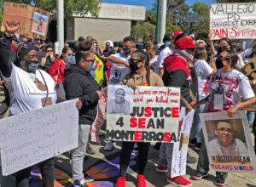
[[[218,172],[256,173],[246,111],[200,114],[210,167]]]

